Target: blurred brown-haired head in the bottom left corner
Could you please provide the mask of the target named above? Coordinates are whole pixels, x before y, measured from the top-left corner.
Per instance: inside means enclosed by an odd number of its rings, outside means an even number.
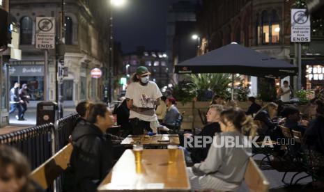
[[[29,177],[29,163],[13,147],[0,145],[0,191],[36,192],[43,191]]]

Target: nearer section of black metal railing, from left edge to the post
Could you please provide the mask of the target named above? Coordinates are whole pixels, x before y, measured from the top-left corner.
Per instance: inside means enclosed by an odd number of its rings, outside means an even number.
[[[35,169],[55,154],[54,131],[52,123],[29,127],[0,135],[0,144],[13,146],[22,152],[31,163],[31,169]]]

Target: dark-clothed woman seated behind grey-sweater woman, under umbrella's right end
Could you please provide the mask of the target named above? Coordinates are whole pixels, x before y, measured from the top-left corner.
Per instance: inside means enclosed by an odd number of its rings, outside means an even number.
[[[272,139],[277,139],[281,136],[281,131],[277,129],[277,125],[281,122],[272,120],[277,115],[277,107],[277,104],[269,103],[256,113],[254,120],[261,121],[263,125],[262,129],[258,129],[260,135],[267,135]]]

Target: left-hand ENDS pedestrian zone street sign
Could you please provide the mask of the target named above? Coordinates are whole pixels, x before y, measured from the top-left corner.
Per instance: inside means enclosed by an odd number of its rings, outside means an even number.
[[[55,49],[54,17],[36,17],[36,49]]]

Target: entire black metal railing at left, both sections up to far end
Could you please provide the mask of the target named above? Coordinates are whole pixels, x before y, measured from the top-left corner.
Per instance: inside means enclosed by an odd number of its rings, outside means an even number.
[[[35,169],[68,144],[75,127],[77,113],[72,113],[52,123],[38,125],[0,135],[0,144],[10,145],[22,152]]]

